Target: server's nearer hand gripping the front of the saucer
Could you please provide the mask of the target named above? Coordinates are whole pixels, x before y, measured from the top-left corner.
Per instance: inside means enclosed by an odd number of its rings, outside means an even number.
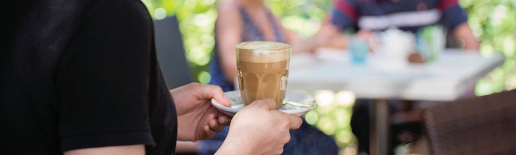
[[[290,141],[289,130],[301,126],[301,118],[276,109],[270,98],[256,100],[233,117],[228,136],[215,154],[281,154]]]

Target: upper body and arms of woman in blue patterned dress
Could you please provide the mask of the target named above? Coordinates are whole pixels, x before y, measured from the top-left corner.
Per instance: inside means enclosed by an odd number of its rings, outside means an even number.
[[[265,6],[265,0],[228,0],[218,5],[215,23],[216,49],[211,84],[224,91],[233,90],[237,68],[235,45],[246,41],[276,41],[292,46],[292,53],[313,52],[336,36],[338,29],[329,18],[312,38],[301,39],[292,30],[282,26]]]

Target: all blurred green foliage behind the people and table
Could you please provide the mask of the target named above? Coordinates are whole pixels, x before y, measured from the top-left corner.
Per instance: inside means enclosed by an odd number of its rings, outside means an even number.
[[[159,20],[177,15],[183,34],[186,58],[192,68],[194,81],[207,83],[207,72],[215,45],[214,26],[218,0],[142,0],[152,17]],[[485,56],[501,52],[506,60],[478,83],[476,95],[516,88],[516,0],[460,0],[469,14],[469,24],[481,40],[480,52]],[[326,12],[331,11],[329,0],[268,0],[273,14],[282,24],[302,36],[316,33]],[[312,125],[335,137],[341,148],[353,145],[349,128],[350,105],[333,104],[317,107],[307,116]]]

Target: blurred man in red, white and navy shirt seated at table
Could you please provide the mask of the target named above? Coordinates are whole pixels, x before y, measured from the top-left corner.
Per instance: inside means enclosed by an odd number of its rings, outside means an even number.
[[[453,36],[452,43],[457,42],[466,50],[478,50],[479,42],[467,24],[466,14],[457,0],[336,0],[333,7],[332,23],[340,30],[357,30],[355,35],[367,40],[373,49],[378,39],[375,31],[396,27],[417,33],[422,27],[442,24]],[[351,117],[351,127],[358,138],[359,151],[365,152],[369,150],[369,104],[368,100],[357,100]],[[396,146],[413,142],[421,133],[420,114],[410,112],[415,106],[411,102],[402,101],[392,101],[390,106],[391,113],[408,111],[407,116],[412,117],[408,120],[416,120],[392,126],[391,144]]]

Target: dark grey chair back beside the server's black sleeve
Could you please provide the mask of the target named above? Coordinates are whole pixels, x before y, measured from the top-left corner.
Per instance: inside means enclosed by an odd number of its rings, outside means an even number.
[[[154,21],[156,53],[168,88],[192,82],[179,23],[175,16]]]

